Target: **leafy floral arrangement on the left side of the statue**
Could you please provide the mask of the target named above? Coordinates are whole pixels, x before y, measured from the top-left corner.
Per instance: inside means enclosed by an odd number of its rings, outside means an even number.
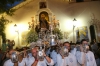
[[[36,42],[38,40],[37,32],[34,29],[31,29],[28,32],[26,39],[28,43]]]

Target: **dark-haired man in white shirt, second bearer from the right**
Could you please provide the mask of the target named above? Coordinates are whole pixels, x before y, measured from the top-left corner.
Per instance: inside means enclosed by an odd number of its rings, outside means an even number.
[[[70,53],[69,42],[64,42],[59,54],[57,54],[57,66],[77,66],[76,57]],[[64,51],[67,53],[64,54]]]

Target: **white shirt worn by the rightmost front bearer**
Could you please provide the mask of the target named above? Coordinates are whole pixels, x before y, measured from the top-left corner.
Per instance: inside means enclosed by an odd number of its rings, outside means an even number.
[[[91,51],[88,51],[87,53],[77,51],[76,58],[78,61],[78,66],[81,66],[81,64],[84,64],[84,66],[97,66],[94,54]]]

